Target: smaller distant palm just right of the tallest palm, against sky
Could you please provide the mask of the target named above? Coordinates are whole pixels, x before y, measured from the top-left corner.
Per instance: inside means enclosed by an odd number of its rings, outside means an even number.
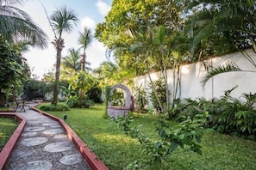
[[[79,37],[78,37],[78,43],[81,46],[81,48],[83,48],[84,52],[81,55],[82,59],[81,59],[81,70],[85,70],[85,64],[86,64],[86,49],[88,46],[91,45],[93,40],[93,34],[91,32],[90,28],[84,27],[84,33],[79,33]]]

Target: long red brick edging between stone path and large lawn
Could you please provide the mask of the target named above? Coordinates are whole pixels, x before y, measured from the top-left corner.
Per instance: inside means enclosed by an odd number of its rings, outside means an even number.
[[[61,118],[57,118],[47,112],[43,112],[39,109],[36,109],[32,107],[36,112],[39,112],[48,118],[53,118],[54,120],[58,121],[59,124],[63,126],[63,128],[66,130],[67,136],[72,140],[72,143],[77,147],[78,151],[83,155],[84,160],[89,164],[89,167],[91,167],[92,170],[108,170],[109,168],[106,167],[102,161],[100,161],[97,158],[97,155],[95,155],[91,150],[86,146],[86,144],[82,141],[80,137],[72,130],[72,128],[66,124],[64,120]]]

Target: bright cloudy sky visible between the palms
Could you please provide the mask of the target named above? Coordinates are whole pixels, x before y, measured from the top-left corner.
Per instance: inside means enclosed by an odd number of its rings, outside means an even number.
[[[93,30],[97,27],[97,23],[104,21],[104,16],[108,14],[111,8],[112,0],[30,0],[26,1],[19,8],[24,10],[31,16],[33,21],[41,27],[48,35],[48,47],[41,50],[33,47],[29,48],[29,52],[24,53],[27,58],[28,65],[32,70],[32,74],[42,78],[44,73],[53,70],[53,64],[56,64],[56,50],[51,42],[54,39],[53,30],[50,27],[47,15],[52,15],[53,12],[66,5],[72,8],[78,14],[78,24],[74,27],[72,33],[64,33],[63,38],[65,48],[62,50],[62,57],[68,55],[68,49],[78,49],[78,33],[84,32],[84,27],[90,27]],[[47,15],[42,4],[47,9]],[[91,46],[86,50],[86,60],[91,63],[91,68],[95,69],[99,64],[106,60],[106,47],[103,46],[97,39],[94,39]],[[82,52],[82,50],[80,51]]]

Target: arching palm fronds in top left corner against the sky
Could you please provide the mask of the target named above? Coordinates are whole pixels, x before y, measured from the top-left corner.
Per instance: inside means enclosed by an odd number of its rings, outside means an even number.
[[[13,6],[14,3],[22,2],[22,0],[0,1],[0,40],[10,44],[22,41],[31,46],[47,47],[47,34],[26,12]]]

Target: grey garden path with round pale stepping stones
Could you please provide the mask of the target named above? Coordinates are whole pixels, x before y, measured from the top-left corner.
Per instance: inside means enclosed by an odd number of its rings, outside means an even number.
[[[16,114],[27,124],[5,170],[91,169],[59,122],[28,108]]]

